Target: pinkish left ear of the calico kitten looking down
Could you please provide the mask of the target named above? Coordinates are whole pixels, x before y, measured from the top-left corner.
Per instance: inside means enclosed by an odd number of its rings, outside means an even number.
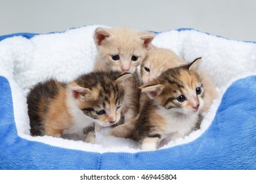
[[[71,86],[70,92],[75,99],[80,101],[86,101],[91,98],[91,90],[88,88],[83,88],[81,86]]]

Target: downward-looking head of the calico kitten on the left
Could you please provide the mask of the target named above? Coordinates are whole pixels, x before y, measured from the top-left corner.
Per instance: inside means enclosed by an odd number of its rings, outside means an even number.
[[[129,73],[121,75],[119,72],[108,75],[104,75],[104,72],[93,73],[77,79],[70,90],[83,114],[93,118],[97,124],[108,127],[121,118],[125,94],[122,82],[130,76]]]

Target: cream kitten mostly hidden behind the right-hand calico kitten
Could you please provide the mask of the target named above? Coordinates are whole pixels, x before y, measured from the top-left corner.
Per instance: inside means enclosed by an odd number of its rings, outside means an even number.
[[[146,59],[141,64],[140,74],[143,80],[143,83],[146,84],[152,81],[154,78],[166,71],[167,69],[171,69],[173,67],[178,67],[180,65],[184,65],[186,61],[179,58],[175,52],[165,48],[156,48],[150,50]],[[211,81],[208,75],[206,75],[202,69],[198,69],[198,74],[202,78],[202,84],[204,86],[205,97],[203,98],[204,107],[202,112],[206,112],[211,103],[213,103],[213,99],[217,97],[217,92],[215,89],[215,84]]]

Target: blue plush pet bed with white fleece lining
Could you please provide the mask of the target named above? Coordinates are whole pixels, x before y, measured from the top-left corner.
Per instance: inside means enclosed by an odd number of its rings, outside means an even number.
[[[156,33],[152,44],[201,69],[218,97],[202,126],[159,150],[104,137],[95,144],[31,137],[26,93],[51,76],[68,82],[92,71],[97,56],[89,25],[47,34],[0,37],[0,169],[256,169],[256,43],[229,40],[194,29]]]

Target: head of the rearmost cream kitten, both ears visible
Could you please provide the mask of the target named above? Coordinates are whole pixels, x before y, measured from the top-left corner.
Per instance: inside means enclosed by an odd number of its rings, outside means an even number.
[[[146,56],[154,33],[125,28],[95,30],[95,43],[104,69],[134,73]]]

